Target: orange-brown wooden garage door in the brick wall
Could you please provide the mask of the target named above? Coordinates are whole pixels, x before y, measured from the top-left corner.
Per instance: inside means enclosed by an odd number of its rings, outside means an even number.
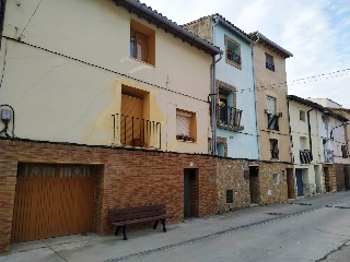
[[[92,170],[84,165],[20,164],[11,241],[92,231]]]

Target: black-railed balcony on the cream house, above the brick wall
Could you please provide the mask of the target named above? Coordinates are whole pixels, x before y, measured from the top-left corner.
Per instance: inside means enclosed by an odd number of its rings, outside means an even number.
[[[161,148],[161,123],[120,114],[113,116],[115,144],[121,146]]]

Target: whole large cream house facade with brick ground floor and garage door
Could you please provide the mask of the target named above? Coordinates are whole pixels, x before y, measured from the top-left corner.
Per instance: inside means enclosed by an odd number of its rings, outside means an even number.
[[[110,234],[113,207],[164,203],[173,222],[215,214],[208,96],[218,53],[135,0],[7,1],[0,251]]]

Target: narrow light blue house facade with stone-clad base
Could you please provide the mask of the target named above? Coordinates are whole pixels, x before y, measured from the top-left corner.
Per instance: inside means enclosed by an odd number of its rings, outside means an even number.
[[[259,158],[249,36],[220,14],[184,25],[223,50],[217,56],[214,122],[217,124],[219,212],[250,204],[249,167]]]

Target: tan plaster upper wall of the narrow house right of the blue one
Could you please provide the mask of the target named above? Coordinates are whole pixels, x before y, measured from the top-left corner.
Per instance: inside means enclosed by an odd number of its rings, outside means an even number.
[[[271,160],[270,139],[277,139],[279,145],[279,162],[291,162],[291,143],[289,134],[288,106],[287,106],[287,86],[285,83],[285,59],[280,55],[262,46],[259,41],[254,45],[254,67],[257,88],[257,111],[260,135],[260,157],[262,160]],[[266,68],[265,52],[273,56],[275,72]],[[272,85],[273,86],[268,86]],[[265,112],[266,96],[277,98],[277,112],[282,112],[279,118],[280,131],[268,130],[267,115]]]

